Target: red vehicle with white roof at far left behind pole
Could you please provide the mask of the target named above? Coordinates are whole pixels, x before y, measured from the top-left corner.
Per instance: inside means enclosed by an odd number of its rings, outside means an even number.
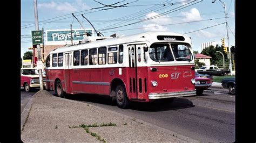
[[[43,75],[45,87],[45,75]],[[21,89],[29,92],[32,88],[40,88],[39,75],[36,68],[21,68]]]

